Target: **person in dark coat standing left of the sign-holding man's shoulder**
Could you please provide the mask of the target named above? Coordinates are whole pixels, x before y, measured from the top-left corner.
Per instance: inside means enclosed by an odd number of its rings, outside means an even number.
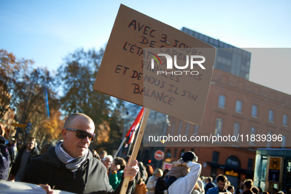
[[[27,141],[26,145],[19,150],[15,163],[12,165],[10,171],[10,181],[21,181],[24,170],[26,166],[30,163],[31,158],[39,154],[38,149],[35,148],[34,145],[35,138],[32,137]]]

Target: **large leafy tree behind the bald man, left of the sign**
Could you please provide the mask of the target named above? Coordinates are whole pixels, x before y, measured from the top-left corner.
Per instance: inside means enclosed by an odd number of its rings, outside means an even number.
[[[115,110],[122,108],[123,101],[93,91],[93,85],[104,50],[87,52],[78,49],[69,54],[58,69],[58,82],[63,86],[61,108],[67,115],[79,112],[91,117],[95,123],[97,140],[93,146],[109,141]],[[118,129],[119,130],[119,129]]]

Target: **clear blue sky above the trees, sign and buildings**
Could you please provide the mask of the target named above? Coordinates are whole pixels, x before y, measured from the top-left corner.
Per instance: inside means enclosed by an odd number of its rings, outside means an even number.
[[[239,48],[291,47],[290,0],[0,0],[0,49],[56,70],[77,48],[104,47],[120,3]],[[250,81],[291,95],[290,51],[253,54]]]

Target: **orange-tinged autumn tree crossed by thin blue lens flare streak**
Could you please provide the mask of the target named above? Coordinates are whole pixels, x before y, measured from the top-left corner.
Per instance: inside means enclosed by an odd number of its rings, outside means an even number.
[[[39,141],[43,137],[48,139],[56,139],[60,134],[58,117],[59,99],[55,91],[55,77],[51,75],[46,68],[31,69],[30,74],[23,77],[23,86],[18,90],[18,94],[24,97],[18,104],[18,120],[22,123],[30,122],[33,124],[32,136],[39,136]],[[44,93],[44,91],[47,91]],[[47,94],[47,96],[46,96]],[[50,118],[47,117],[45,109],[46,101],[48,101]],[[18,131],[25,134],[25,131]],[[20,136],[21,136],[20,135]],[[27,137],[27,135],[26,135]]]

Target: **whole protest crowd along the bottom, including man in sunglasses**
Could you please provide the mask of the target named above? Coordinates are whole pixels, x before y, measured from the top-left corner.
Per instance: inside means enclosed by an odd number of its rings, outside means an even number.
[[[1,154],[4,147],[9,155],[6,171],[1,166],[1,180],[37,184],[47,193],[58,189],[82,194],[117,194],[124,177],[129,176],[127,194],[291,194],[275,188],[263,191],[251,179],[241,181],[234,188],[223,174],[200,176],[201,165],[191,151],[173,162],[171,169],[162,170],[137,161],[128,165],[130,156],[113,158],[105,150],[98,154],[88,148],[96,136],[94,129],[91,118],[74,113],[67,118],[62,130],[64,139],[57,145],[44,143],[40,148],[33,137],[22,147],[18,147],[14,138],[6,145],[1,141]],[[3,130],[0,132],[3,140]]]

